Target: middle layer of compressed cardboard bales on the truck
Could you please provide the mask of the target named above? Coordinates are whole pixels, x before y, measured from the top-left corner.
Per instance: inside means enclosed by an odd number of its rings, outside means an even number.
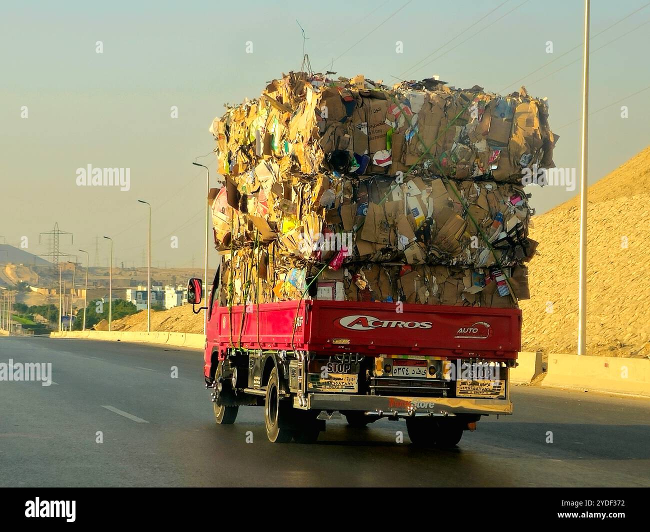
[[[435,176],[281,174],[259,163],[213,191],[219,250],[276,243],[304,260],[512,266],[532,257],[531,209],[521,185]]]

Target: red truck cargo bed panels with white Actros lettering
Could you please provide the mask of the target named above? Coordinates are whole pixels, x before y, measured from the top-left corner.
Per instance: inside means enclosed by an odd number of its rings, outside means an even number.
[[[302,300],[213,313],[207,340],[220,358],[230,347],[491,360],[515,359],[521,349],[516,309]]]

